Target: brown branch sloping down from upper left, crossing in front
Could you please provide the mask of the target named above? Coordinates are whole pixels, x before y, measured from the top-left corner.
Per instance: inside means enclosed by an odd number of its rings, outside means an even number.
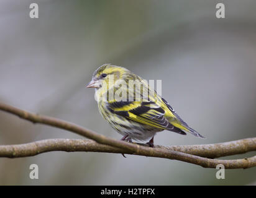
[[[224,165],[225,168],[250,168],[256,166],[256,156],[239,160],[213,160],[188,153],[177,152],[175,150],[149,148],[143,145],[131,144],[121,140],[111,139],[101,134],[97,134],[96,132],[90,131],[89,129],[77,126],[76,124],[68,123],[57,118],[29,113],[4,103],[0,103],[0,110],[15,114],[20,118],[32,121],[32,123],[46,124],[53,127],[58,127],[60,129],[65,129],[67,131],[75,132],[76,134],[80,134],[81,136],[95,140],[98,142],[98,144],[109,145],[115,148],[123,149],[126,151],[124,153],[129,152],[134,155],[144,155],[148,157],[160,157],[168,158],[171,160],[186,161],[188,163],[203,166],[204,168],[216,168],[218,164]],[[35,144],[35,147],[38,147],[38,145]],[[12,153],[16,154],[18,150],[15,147],[12,149]]]

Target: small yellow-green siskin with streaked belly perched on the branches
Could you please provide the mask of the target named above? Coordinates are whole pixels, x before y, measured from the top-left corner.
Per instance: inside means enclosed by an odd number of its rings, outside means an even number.
[[[204,138],[191,129],[146,80],[124,67],[100,66],[87,88],[95,88],[99,112],[122,134],[121,140],[149,140],[147,144],[153,147],[153,137],[163,130],[181,135],[190,132]]]

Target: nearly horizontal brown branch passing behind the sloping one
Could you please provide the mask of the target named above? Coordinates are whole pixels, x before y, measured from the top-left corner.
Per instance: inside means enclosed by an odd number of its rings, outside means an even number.
[[[173,145],[170,147],[155,145],[155,147],[159,149],[175,150],[199,157],[216,158],[254,151],[256,150],[256,144],[254,142],[256,142],[256,138],[218,144]],[[148,147],[147,144],[139,145]],[[94,140],[88,139],[46,139],[27,144],[0,145],[0,157],[29,157],[53,151],[134,154],[124,149],[98,144]]]

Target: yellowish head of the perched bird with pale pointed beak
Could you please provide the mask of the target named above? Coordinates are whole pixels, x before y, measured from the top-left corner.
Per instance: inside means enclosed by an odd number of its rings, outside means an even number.
[[[129,73],[129,70],[124,67],[103,64],[103,66],[94,71],[91,82],[89,82],[86,88],[109,88],[115,84],[116,80],[122,79],[124,74],[127,73]]]

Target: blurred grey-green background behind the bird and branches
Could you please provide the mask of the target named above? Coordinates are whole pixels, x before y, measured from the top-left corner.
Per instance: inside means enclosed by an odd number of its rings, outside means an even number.
[[[30,19],[29,5],[39,5]],[[158,145],[209,144],[255,137],[256,1],[0,1],[0,100],[120,139],[86,89],[104,63],[161,79],[162,95],[207,139],[164,131]],[[0,144],[83,138],[0,111]],[[256,152],[229,158],[242,158]],[[39,166],[39,179],[29,166]],[[50,152],[0,158],[1,185],[245,185],[255,168],[214,169],[111,153]]]

